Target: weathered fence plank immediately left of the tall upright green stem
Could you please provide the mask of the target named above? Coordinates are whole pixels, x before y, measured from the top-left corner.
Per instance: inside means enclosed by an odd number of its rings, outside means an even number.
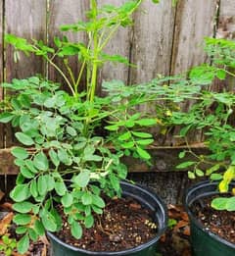
[[[51,0],[49,5],[49,21],[48,21],[48,39],[49,42],[53,44],[55,36],[61,37],[62,32],[60,31],[60,26],[74,24],[78,20],[85,19],[85,12],[89,7],[88,1],[61,1],[61,0]],[[65,33],[64,33],[65,34]],[[81,32],[67,32],[66,35],[71,41],[81,41],[86,40],[86,36]],[[57,65],[67,73],[65,65],[60,59],[56,61]],[[70,58],[70,65],[72,72],[78,76],[78,71],[80,69],[80,64],[77,61],[77,57]],[[65,84],[65,80],[61,77],[55,69],[49,67],[49,78],[52,80],[60,81]]]

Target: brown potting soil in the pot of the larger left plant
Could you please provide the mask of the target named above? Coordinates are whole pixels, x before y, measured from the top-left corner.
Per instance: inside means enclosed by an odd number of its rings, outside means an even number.
[[[83,229],[80,239],[71,236],[67,218],[57,236],[68,244],[90,251],[121,251],[153,238],[157,225],[151,213],[132,198],[108,199],[103,215],[95,215],[95,225]]]

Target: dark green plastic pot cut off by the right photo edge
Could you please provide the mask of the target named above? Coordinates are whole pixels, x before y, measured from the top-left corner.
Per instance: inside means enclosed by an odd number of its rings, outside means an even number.
[[[206,230],[205,227],[196,219],[190,210],[190,206],[196,200],[200,200],[205,196],[211,196],[218,194],[217,182],[203,181],[200,182],[186,192],[184,198],[184,206],[189,215],[190,227],[191,227],[191,245],[192,253],[194,256],[234,256],[235,244],[219,237],[210,230]],[[235,185],[233,182],[230,185]],[[219,214],[219,212],[218,212]]]

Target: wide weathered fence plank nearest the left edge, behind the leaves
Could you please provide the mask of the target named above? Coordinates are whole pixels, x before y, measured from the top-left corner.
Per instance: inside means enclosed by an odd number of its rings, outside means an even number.
[[[5,1],[5,32],[27,39],[46,39],[46,0],[8,0]],[[35,56],[26,57],[21,53],[21,60],[14,62],[12,46],[6,47],[6,79],[24,78],[44,73],[43,61]],[[12,128],[6,128],[6,146],[14,144]]]

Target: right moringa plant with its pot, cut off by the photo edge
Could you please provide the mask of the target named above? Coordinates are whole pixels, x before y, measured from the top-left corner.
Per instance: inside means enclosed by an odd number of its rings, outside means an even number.
[[[230,80],[235,77],[235,42],[226,39],[206,39],[206,50],[212,57],[212,66],[203,65],[193,69],[192,79],[212,83],[214,77]],[[234,82],[234,81],[233,81]],[[194,255],[235,255],[235,146],[234,107],[235,96],[230,91],[203,90],[196,104],[187,113],[173,113],[172,122],[185,125],[181,136],[187,132],[203,130],[205,144],[211,153],[196,155],[187,153],[194,161],[183,162],[178,168],[189,169],[189,178],[208,176],[192,186],[185,196],[185,207],[191,221],[191,242]],[[206,171],[203,171],[206,167]]]

